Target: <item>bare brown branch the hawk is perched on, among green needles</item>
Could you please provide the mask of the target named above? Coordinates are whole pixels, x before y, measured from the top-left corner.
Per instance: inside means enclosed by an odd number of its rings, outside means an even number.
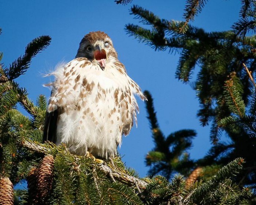
[[[48,154],[50,151],[50,148],[43,147],[38,142],[23,141],[22,146],[29,148],[32,151],[40,152],[40,153],[44,153],[44,154]],[[76,155],[74,155],[74,157],[78,158],[78,157],[76,157]],[[90,157],[90,155],[86,155],[85,157]],[[145,182],[141,179],[132,177],[131,175],[125,174],[118,170],[111,169],[110,167],[108,167],[108,165],[106,165],[106,163],[101,164],[101,165],[98,165],[95,163],[95,165],[97,167],[99,167],[106,175],[109,175],[109,173],[111,173],[111,177],[113,177],[116,181],[127,184],[128,186],[137,187],[140,189],[139,191],[141,191],[141,189],[145,189],[146,186],[148,185],[147,182]]]

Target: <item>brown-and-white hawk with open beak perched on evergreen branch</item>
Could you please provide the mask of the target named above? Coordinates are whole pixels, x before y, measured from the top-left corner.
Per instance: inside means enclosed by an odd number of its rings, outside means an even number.
[[[113,157],[139,112],[135,94],[146,97],[127,75],[110,37],[83,37],[74,60],[59,66],[46,110],[43,141],[64,143],[70,152]]]

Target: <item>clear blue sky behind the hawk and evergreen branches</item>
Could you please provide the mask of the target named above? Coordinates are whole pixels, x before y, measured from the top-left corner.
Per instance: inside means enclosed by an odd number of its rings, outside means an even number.
[[[133,1],[133,4],[169,20],[183,20],[185,3],[185,0]],[[199,104],[190,85],[174,78],[179,56],[167,51],[155,52],[125,33],[125,24],[139,23],[129,14],[132,4],[116,5],[114,0],[0,0],[0,5],[0,27],[3,29],[0,51],[4,53],[1,63],[12,63],[24,53],[25,46],[33,38],[41,35],[52,37],[50,46],[33,58],[30,69],[17,80],[21,87],[27,88],[30,99],[35,101],[39,94],[49,98],[50,90],[42,85],[50,79],[43,78],[43,74],[54,70],[60,61],[72,60],[85,34],[90,31],[105,31],[112,38],[119,60],[124,63],[129,76],[142,90],[151,92],[164,134],[180,129],[194,129],[197,137],[190,150],[191,158],[198,159],[206,154],[210,148],[210,128],[200,126],[196,117]],[[229,30],[238,19],[239,9],[239,0],[209,1],[192,24],[206,31]],[[134,127],[130,135],[123,138],[119,152],[124,156],[127,166],[144,177],[148,170],[144,165],[144,158],[154,145],[145,105],[139,99],[138,103],[138,128]]]

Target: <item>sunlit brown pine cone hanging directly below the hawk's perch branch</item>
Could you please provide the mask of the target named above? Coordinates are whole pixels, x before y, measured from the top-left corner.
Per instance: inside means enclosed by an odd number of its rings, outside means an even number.
[[[37,175],[37,192],[40,201],[44,201],[52,188],[54,159],[52,155],[46,155],[39,165]]]

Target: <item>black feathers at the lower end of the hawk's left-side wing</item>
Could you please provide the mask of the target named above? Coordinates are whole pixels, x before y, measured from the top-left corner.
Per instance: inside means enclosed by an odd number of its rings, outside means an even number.
[[[59,109],[52,112],[46,111],[45,124],[43,129],[43,142],[50,141],[50,142],[56,143],[58,119],[59,119]]]

